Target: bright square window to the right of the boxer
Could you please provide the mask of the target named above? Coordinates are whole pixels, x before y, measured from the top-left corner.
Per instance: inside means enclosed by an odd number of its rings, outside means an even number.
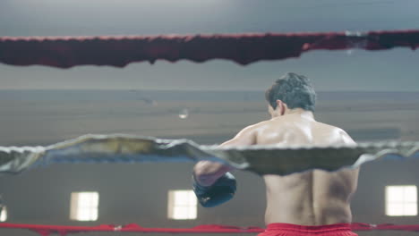
[[[386,187],[386,215],[417,215],[417,188],[415,185]]]

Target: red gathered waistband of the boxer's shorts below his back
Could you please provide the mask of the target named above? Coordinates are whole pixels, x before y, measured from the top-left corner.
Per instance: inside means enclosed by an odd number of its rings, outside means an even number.
[[[351,231],[349,223],[335,223],[326,225],[298,225],[292,223],[269,223],[266,231],[293,231],[293,232],[340,232]]]

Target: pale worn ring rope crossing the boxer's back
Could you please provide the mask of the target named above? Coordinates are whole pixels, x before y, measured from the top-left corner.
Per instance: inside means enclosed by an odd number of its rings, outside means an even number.
[[[135,135],[84,135],[47,147],[0,147],[0,173],[20,173],[47,164],[198,162],[210,160],[257,174],[287,175],[312,169],[338,171],[381,159],[419,157],[419,142],[360,143],[356,146],[217,147],[188,139]]]

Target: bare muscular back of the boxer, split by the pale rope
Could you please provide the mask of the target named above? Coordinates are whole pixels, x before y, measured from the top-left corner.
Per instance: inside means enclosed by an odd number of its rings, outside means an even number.
[[[354,145],[345,131],[310,114],[288,114],[256,124],[258,145]],[[335,173],[315,170],[287,176],[265,175],[265,222],[323,225],[350,223],[350,199],[355,193],[358,170]]]

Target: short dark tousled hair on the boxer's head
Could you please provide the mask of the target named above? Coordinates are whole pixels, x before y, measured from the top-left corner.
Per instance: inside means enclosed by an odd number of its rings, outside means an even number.
[[[314,112],[316,92],[312,83],[304,75],[287,72],[265,92],[266,100],[272,108],[277,108],[277,100],[283,101],[290,109],[303,108]]]

